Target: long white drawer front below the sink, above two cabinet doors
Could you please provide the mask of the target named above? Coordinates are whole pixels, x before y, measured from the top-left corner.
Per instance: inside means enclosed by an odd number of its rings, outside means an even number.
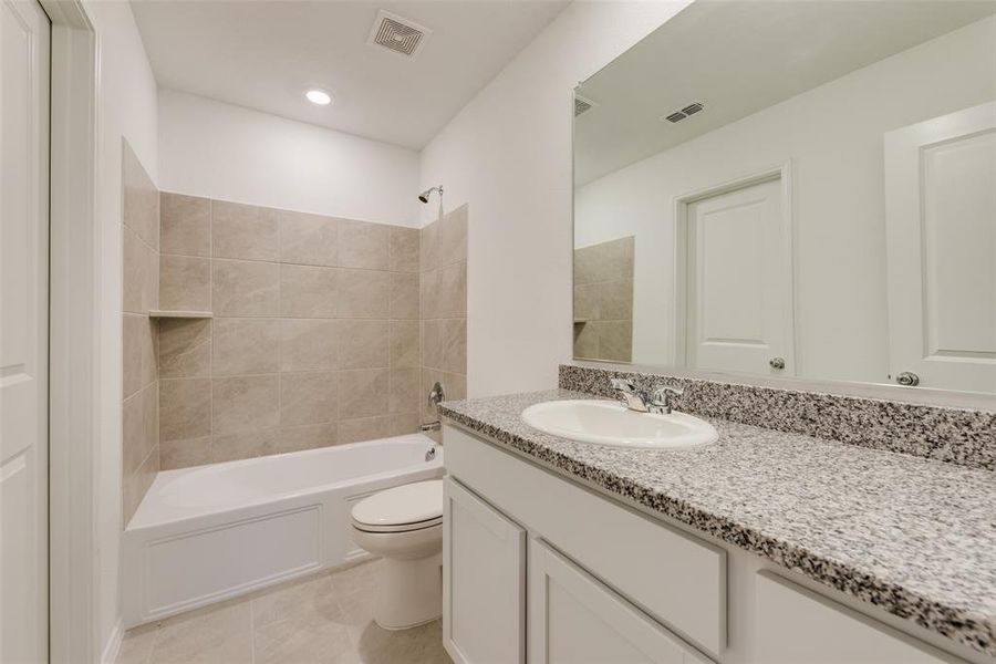
[[[726,551],[447,426],[449,473],[702,650],[726,647]]]

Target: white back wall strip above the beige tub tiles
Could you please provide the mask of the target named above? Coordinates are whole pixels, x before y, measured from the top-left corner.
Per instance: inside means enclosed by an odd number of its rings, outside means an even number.
[[[159,91],[158,170],[166,191],[418,224],[415,151],[172,90]]]

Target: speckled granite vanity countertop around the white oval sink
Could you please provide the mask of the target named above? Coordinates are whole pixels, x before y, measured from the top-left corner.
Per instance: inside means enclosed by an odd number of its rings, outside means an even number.
[[[520,413],[553,390],[440,406],[553,471],[996,656],[996,473],[705,417],[712,446],[613,448]]]

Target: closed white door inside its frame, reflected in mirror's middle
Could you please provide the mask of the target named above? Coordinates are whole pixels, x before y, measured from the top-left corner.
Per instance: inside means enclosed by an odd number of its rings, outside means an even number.
[[[687,366],[795,374],[791,238],[782,208],[780,178],[687,205]]]

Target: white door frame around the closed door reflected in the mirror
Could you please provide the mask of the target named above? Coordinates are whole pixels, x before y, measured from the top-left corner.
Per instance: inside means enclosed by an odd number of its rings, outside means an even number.
[[[786,257],[782,273],[787,279],[788,291],[785,304],[790,312],[786,317],[785,338],[789,340],[786,349],[787,360],[792,366],[792,376],[800,374],[798,362],[799,349],[796,339],[796,249],[795,249],[795,207],[792,199],[792,162],[787,159],[777,166],[751,172],[718,185],[709,185],[674,198],[674,364],[688,366],[688,208],[694,203],[729,194],[754,185],[778,180],[781,185],[781,237],[785,242]],[[786,374],[788,375],[788,374]]]

